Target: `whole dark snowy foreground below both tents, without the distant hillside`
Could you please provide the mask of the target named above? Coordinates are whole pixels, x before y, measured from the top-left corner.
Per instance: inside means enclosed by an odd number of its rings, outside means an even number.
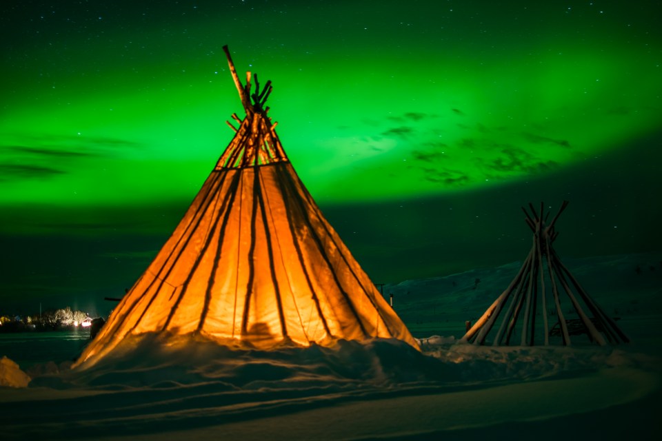
[[[0,394],[0,426],[9,438],[409,440],[484,439],[494,424],[551,427],[559,418],[570,427],[587,412],[587,432],[572,433],[609,434],[592,425],[609,409],[623,424],[653,421],[655,354],[421,341],[423,352],[397,340],[259,351],[199,337],[131,338],[95,365],[51,366],[27,389]]]

